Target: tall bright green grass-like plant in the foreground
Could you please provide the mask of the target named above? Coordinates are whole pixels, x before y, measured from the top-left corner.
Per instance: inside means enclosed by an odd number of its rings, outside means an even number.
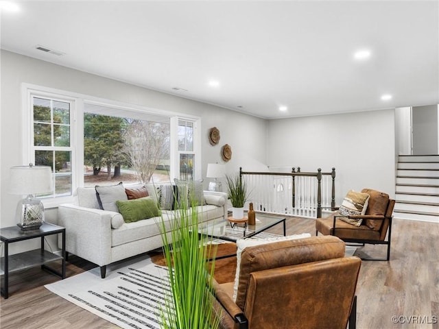
[[[167,231],[162,215],[161,236],[163,254],[169,271],[171,292],[161,308],[162,326],[165,329],[216,329],[219,316],[214,314],[213,271],[217,245],[204,234],[198,234],[200,223],[194,202],[189,210],[187,203],[174,210]],[[206,259],[213,258],[208,271]]]

